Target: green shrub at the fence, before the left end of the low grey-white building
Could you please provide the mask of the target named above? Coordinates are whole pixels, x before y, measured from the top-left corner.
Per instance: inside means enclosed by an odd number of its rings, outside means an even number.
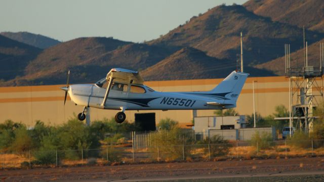
[[[220,135],[214,135],[211,138],[206,138],[204,143],[210,144],[210,152],[211,156],[225,156],[228,154],[229,149],[232,147],[232,144],[229,143],[228,140],[224,139]],[[208,148],[205,148],[206,152],[209,152]]]

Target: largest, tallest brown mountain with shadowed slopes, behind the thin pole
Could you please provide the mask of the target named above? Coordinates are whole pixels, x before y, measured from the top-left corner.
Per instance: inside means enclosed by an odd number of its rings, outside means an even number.
[[[240,32],[244,34],[244,57],[247,65],[264,63],[281,57],[282,45],[290,42],[292,51],[300,48],[303,30],[297,26],[273,22],[242,6],[218,6],[199,17],[193,17],[152,45],[188,46],[207,52],[216,58],[237,59]],[[309,43],[323,34],[306,31]]]

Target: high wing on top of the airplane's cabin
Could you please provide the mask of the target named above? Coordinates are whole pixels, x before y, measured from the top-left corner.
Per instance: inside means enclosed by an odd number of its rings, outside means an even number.
[[[138,84],[143,85],[144,80],[139,75],[138,71],[132,71],[123,68],[112,68],[106,77],[106,80],[109,81],[112,78],[115,82],[124,83],[124,84]]]

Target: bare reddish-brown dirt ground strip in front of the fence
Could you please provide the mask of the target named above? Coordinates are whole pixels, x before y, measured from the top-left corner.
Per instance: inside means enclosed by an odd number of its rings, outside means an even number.
[[[2,181],[94,181],[317,170],[324,170],[324,157],[0,170],[0,179]]]

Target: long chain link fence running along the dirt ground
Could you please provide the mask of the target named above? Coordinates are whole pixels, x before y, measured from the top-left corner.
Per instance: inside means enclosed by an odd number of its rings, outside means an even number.
[[[144,137],[144,136],[138,136]],[[147,138],[149,137],[146,136]],[[133,140],[135,137],[133,137]],[[145,139],[144,139],[145,141]],[[227,159],[285,158],[324,155],[324,140],[290,140],[252,143],[230,141],[228,143],[154,145],[152,140],[136,147],[106,146],[101,149],[0,152],[1,169],[29,169],[33,167],[58,167],[82,165],[116,165],[131,163],[172,161],[218,161]]]

